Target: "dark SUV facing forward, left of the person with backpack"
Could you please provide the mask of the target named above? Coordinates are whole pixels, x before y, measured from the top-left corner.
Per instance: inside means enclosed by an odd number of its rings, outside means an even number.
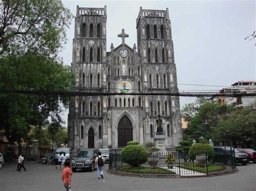
[[[95,169],[95,159],[98,156],[98,149],[84,149],[80,150],[76,157],[71,160],[72,171],[76,172],[77,169],[89,169],[89,171],[94,171]]]

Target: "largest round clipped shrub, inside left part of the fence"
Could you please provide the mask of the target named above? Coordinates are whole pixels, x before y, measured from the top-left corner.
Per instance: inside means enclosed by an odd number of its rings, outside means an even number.
[[[147,161],[147,151],[140,145],[127,145],[121,151],[121,160],[133,167]]]

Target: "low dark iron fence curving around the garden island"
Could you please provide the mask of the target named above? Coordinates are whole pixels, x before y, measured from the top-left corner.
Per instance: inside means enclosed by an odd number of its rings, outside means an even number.
[[[168,153],[148,153],[147,158],[142,159],[137,155],[122,155],[121,157],[120,153],[112,152],[109,155],[109,169],[131,174],[197,176],[228,172],[236,168],[235,155],[232,150],[214,155],[197,154],[194,157],[188,157],[187,154],[179,152],[172,152],[172,154],[173,162],[166,162]]]

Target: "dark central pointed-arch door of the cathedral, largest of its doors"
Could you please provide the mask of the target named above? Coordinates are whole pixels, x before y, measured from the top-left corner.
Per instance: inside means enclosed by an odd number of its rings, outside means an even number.
[[[124,115],[118,123],[118,147],[125,147],[132,140],[132,122]]]

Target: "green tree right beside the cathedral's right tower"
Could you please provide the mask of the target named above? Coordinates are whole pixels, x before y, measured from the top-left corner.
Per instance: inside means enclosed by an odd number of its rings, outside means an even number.
[[[212,138],[212,129],[217,125],[220,117],[231,112],[232,107],[206,100],[202,100],[199,104],[197,102],[192,103],[190,107],[185,105],[187,120],[189,119],[190,121],[188,121],[188,128],[185,130],[184,136],[188,140],[199,140],[201,136],[210,139]]]

